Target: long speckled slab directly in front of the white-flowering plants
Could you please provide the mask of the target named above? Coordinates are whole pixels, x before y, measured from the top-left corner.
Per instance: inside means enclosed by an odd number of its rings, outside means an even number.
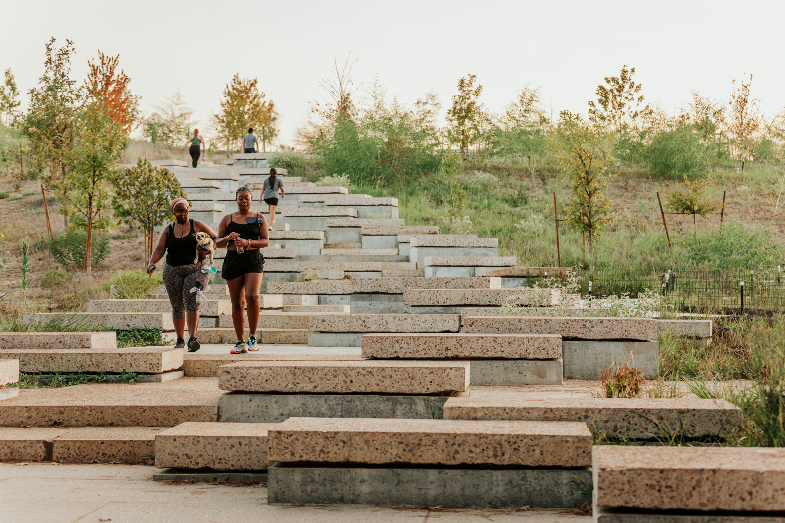
[[[657,338],[652,318],[463,316],[466,334],[557,334],[590,340],[650,340]]]

